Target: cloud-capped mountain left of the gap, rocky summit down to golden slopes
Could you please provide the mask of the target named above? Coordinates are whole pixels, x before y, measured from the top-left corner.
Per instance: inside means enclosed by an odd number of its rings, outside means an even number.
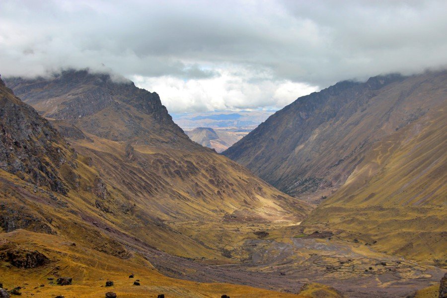
[[[189,140],[158,95],[132,82],[65,71],[6,83],[88,156],[103,198],[93,203],[103,217],[97,222],[108,219],[154,247],[226,258],[236,243],[216,240],[222,221],[299,222],[311,209]]]

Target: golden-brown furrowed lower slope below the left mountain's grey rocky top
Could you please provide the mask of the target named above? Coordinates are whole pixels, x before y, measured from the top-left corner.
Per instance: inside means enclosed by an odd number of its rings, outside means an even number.
[[[110,221],[175,255],[222,258],[222,250],[256,238],[251,224],[262,229],[296,223],[312,209],[213,152],[136,145],[129,160],[126,143],[88,137],[93,142],[72,141],[73,146],[92,157],[115,198],[113,205],[119,205],[120,196],[136,205],[122,218],[119,212],[110,215]]]

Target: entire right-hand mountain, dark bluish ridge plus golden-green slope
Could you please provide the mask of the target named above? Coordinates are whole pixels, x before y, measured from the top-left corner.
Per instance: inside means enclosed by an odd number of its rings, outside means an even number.
[[[320,198],[309,232],[446,266],[446,105],[446,71],[344,81],[223,154],[286,193]]]

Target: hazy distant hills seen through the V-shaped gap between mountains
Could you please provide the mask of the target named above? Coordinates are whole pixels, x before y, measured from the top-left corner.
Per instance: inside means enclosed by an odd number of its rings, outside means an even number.
[[[192,141],[213,148],[217,152],[224,151],[247,134],[247,132],[234,132],[209,127],[198,127],[191,131],[185,131],[185,133]]]

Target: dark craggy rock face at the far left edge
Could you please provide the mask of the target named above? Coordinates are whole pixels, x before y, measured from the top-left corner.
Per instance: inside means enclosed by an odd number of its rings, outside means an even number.
[[[67,194],[58,168],[72,160],[73,153],[60,134],[0,79],[0,168]]]

